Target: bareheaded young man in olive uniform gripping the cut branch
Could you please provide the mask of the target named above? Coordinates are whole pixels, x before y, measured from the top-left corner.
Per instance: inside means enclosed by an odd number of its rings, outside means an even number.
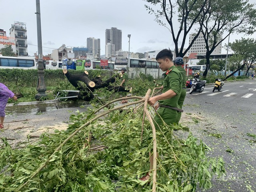
[[[160,69],[166,71],[166,78],[163,82],[163,94],[148,99],[150,106],[154,106],[158,101],[155,108],[159,108],[157,112],[167,125],[178,123],[178,112],[182,112],[178,105],[178,100],[182,90],[183,78],[180,71],[174,66],[172,57],[172,52],[168,49],[164,49],[157,54],[156,60]],[[161,118],[158,115],[154,117],[156,128],[162,126]]]

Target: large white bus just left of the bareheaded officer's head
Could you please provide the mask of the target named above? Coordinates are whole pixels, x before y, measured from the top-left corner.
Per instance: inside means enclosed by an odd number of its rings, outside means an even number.
[[[121,70],[121,68],[126,68],[128,71],[129,78],[136,78],[140,73],[150,74],[153,78],[161,78],[162,70],[159,68],[159,64],[156,60],[152,59],[138,59],[138,58],[128,58],[127,57],[116,57],[115,67],[116,70]],[[129,63],[129,65],[128,65]]]

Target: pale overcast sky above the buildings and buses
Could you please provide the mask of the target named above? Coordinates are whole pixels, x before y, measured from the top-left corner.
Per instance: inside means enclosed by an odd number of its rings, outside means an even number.
[[[255,3],[256,0],[249,0]],[[100,38],[101,55],[105,54],[105,30],[116,27],[122,30],[122,50],[128,51],[128,34],[131,34],[130,52],[147,52],[170,47],[174,49],[167,28],[148,14],[143,0],[40,0],[43,54],[62,44],[86,47],[88,37]],[[0,28],[9,36],[14,21],[26,22],[28,54],[38,51],[36,30],[36,0],[0,0]],[[230,35],[230,42],[244,37]],[[256,38],[256,35],[248,36]],[[225,40],[222,45],[227,43]],[[222,48],[222,53],[226,50]]]

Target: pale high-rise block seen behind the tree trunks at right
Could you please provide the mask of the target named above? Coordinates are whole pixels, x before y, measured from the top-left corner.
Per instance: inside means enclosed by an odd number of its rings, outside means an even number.
[[[189,35],[189,44],[192,42],[194,36],[196,36],[196,34]],[[221,54],[221,45],[222,45],[222,43],[220,43],[214,49],[212,54]],[[188,55],[190,55],[191,53],[197,53],[198,55],[206,54],[206,43],[204,41],[204,36],[202,33],[199,34],[199,36],[196,38],[196,40],[192,44],[191,48],[188,50]]]

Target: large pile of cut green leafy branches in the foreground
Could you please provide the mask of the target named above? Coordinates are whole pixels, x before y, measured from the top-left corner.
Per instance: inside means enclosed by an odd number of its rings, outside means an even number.
[[[192,134],[177,138],[174,126],[155,131],[147,97],[130,98],[140,100],[77,112],[67,130],[42,134],[21,149],[2,138],[0,191],[187,192],[208,189],[213,174],[222,176],[222,158],[208,158],[202,141]],[[144,109],[138,108],[143,102]],[[131,104],[136,110],[128,108]],[[149,152],[156,149],[150,183],[143,182],[138,178],[149,171]]]

